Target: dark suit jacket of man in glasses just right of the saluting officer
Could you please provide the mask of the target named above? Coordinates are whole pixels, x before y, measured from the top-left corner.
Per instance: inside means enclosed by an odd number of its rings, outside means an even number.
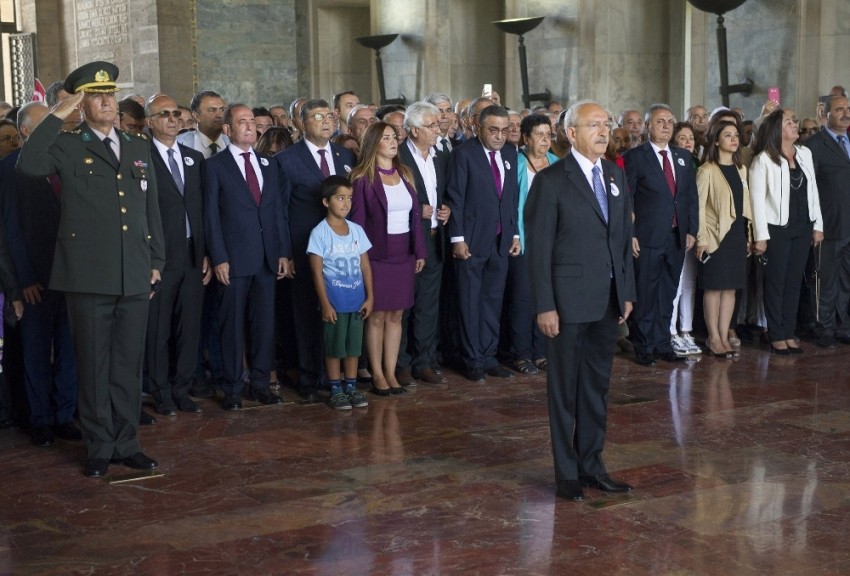
[[[165,269],[181,270],[186,262],[186,222],[194,240],[193,262],[198,268],[204,259],[204,196],[201,189],[201,165],[204,155],[187,146],[178,144],[183,165],[183,194],[177,188],[171,169],[165,164],[159,150],[151,142],[151,159],[159,184],[159,213],[165,237]]]

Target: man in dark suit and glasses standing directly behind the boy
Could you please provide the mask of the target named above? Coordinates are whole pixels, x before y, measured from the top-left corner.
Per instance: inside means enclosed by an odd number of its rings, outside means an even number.
[[[298,346],[298,392],[313,399],[324,370],[322,352],[322,315],[313,281],[307,242],[310,232],[327,215],[322,204],[322,181],[335,174],[347,176],[354,166],[354,155],[330,143],[333,116],[324,100],[308,100],[301,106],[304,137],[275,158],[292,187],[289,199],[290,237],[295,275],[292,286],[295,313],[295,339]]]

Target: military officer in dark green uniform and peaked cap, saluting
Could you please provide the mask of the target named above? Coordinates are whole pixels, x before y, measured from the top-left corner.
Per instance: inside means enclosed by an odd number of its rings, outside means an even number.
[[[85,475],[110,463],[153,469],[139,425],[148,300],[165,264],[150,144],[116,130],[118,67],[92,62],[65,79],[74,94],[27,140],[17,168],[57,175],[62,215],[50,288],[65,292],[79,376]],[[76,108],[83,122],[60,132]]]

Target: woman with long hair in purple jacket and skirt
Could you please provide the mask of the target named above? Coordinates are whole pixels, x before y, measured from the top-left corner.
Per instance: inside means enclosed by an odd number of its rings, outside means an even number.
[[[426,252],[413,177],[399,160],[392,126],[377,122],[363,134],[351,183],[354,197],[349,219],[363,227],[372,243],[369,261],[375,303],[365,331],[372,392],[406,394],[395,376],[401,317],[413,306],[413,277],[425,265]]]

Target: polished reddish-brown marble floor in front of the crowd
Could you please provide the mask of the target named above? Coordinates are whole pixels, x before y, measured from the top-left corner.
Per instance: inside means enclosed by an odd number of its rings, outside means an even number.
[[[142,430],[147,478],[0,431],[0,574],[847,575],[848,353],[618,356],[605,456],[635,490],[582,503],[554,495],[545,376],[203,401]]]

